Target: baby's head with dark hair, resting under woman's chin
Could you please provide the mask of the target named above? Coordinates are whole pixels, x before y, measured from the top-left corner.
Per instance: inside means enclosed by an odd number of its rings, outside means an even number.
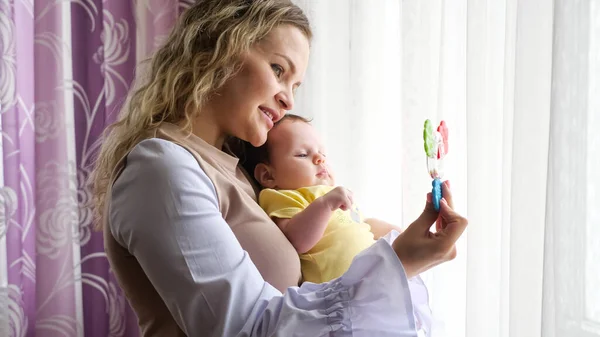
[[[285,115],[255,155],[254,178],[264,188],[293,190],[334,184],[321,137],[304,117]]]

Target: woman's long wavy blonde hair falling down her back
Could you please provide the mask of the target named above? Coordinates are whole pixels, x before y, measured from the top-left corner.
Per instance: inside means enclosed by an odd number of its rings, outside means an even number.
[[[191,132],[203,104],[239,70],[240,56],[282,24],[312,38],[308,19],[289,0],[198,0],[181,15],[150,58],[147,80],[105,130],[89,177],[96,228],[119,160],[162,122]]]

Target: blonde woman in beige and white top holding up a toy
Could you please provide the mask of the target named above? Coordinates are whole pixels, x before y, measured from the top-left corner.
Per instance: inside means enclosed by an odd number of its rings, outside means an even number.
[[[293,108],[310,38],[287,0],[197,1],[108,129],[95,210],[143,336],[416,335],[408,279],[452,259],[467,223],[447,186],[438,233],[428,201],[339,279],[297,287],[294,248],[224,145],[262,145]]]

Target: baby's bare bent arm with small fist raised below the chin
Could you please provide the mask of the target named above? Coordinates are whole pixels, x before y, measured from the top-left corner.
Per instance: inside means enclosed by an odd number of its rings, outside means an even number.
[[[333,211],[350,209],[352,194],[343,187],[336,187],[315,199],[291,219],[275,218],[275,223],[290,240],[299,254],[306,253],[323,237]]]

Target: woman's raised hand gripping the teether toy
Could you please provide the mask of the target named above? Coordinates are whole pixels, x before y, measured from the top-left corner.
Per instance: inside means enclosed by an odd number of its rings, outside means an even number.
[[[442,194],[439,213],[433,206],[431,193],[427,194],[421,216],[392,244],[409,278],[456,257],[454,244],[468,221],[452,209],[452,192],[447,181],[442,184]],[[432,233],[429,229],[434,223],[436,232]]]

